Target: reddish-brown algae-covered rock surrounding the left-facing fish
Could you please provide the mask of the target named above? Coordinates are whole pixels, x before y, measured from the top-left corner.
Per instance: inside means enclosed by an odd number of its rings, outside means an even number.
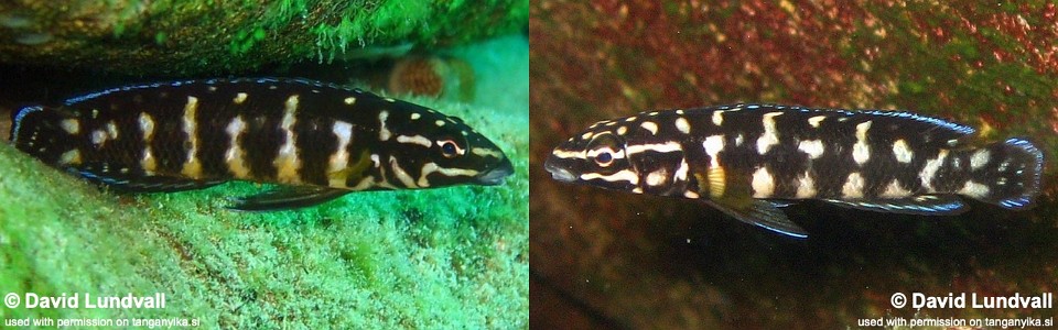
[[[915,317],[890,304],[896,293],[1054,290],[1056,13],[1051,3],[533,2],[531,321],[839,328]],[[1048,157],[1045,194],[1029,211],[971,204],[947,218],[803,202],[786,211],[812,235],[795,241],[703,205],[562,185],[542,168],[551,147],[598,120],[741,101],[906,109],[984,140],[1028,136]]]

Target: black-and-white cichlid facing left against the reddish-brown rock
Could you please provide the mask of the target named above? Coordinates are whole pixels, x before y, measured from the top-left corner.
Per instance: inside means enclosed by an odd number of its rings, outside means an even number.
[[[554,148],[560,182],[700,199],[743,222],[808,234],[778,209],[820,199],[874,211],[957,215],[958,195],[1024,209],[1043,153],[910,112],[734,105],[602,121]]]

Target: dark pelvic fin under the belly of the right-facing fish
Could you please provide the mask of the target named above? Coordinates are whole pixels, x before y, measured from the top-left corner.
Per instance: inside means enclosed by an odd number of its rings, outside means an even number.
[[[229,198],[233,205],[227,208],[240,211],[273,211],[310,207],[353,193],[316,186],[278,187],[268,191]]]

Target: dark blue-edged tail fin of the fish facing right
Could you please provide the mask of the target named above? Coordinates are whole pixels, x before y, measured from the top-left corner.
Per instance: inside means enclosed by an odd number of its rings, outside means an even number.
[[[45,163],[55,163],[61,153],[73,148],[69,131],[74,128],[63,121],[69,119],[55,109],[29,106],[14,113],[11,129],[11,144],[14,147],[37,157]],[[77,128],[79,129],[79,128]]]

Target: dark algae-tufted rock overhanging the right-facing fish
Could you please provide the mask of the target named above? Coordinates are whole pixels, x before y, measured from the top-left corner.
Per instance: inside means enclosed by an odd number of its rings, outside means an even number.
[[[140,75],[245,72],[364,47],[452,45],[527,26],[528,0],[485,2],[3,1],[0,62]]]

